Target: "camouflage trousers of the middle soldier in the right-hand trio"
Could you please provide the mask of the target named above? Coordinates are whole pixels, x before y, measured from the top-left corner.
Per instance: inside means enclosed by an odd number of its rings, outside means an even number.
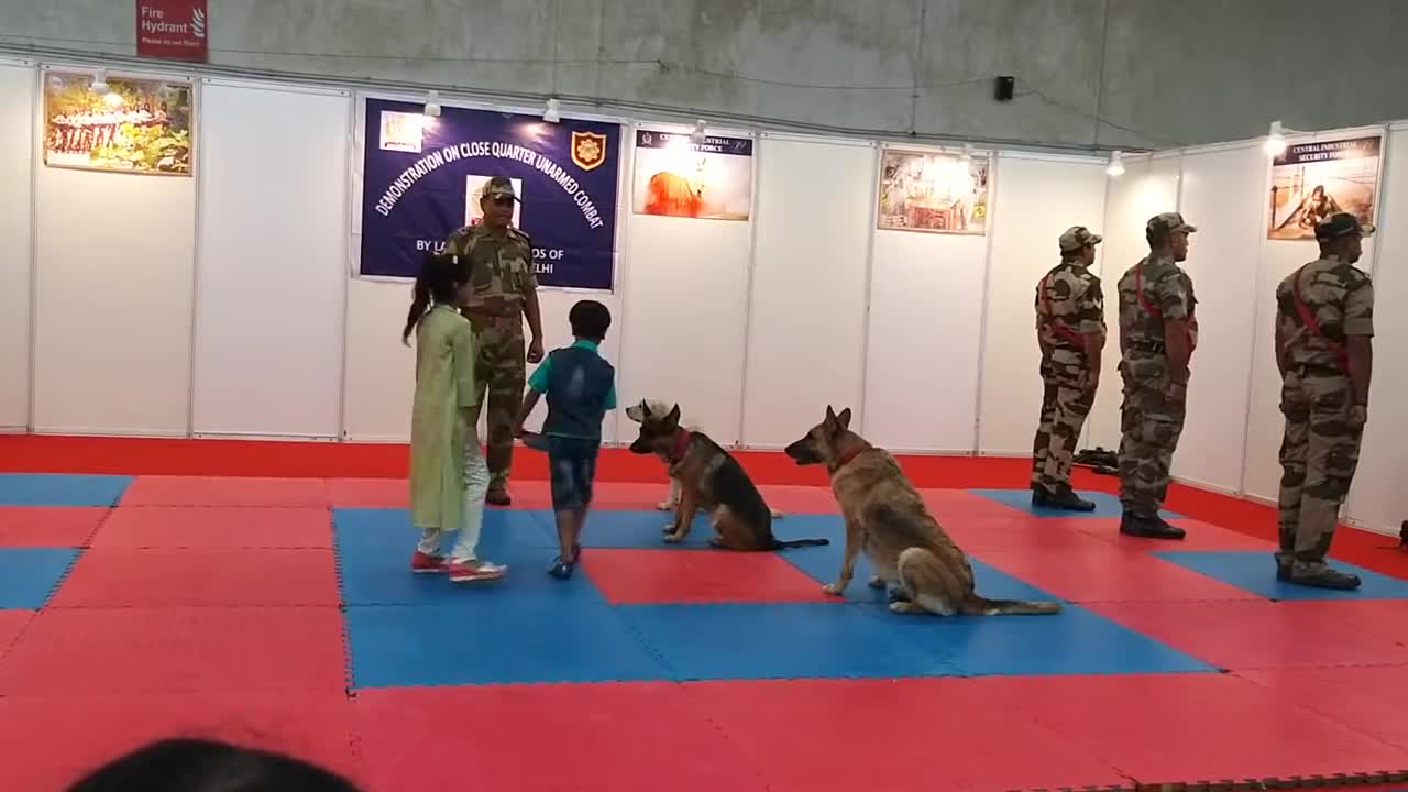
[[[1178,450],[1186,404],[1170,399],[1171,376],[1163,355],[1119,364],[1119,502],[1125,513],[1153,517],[1169,496],[1169,469]]]

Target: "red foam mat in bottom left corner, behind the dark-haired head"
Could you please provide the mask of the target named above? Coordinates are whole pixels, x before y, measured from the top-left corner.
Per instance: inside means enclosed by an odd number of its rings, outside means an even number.
[[[11,696],[0,699],[0,789],[65,789],[169,737],[291,754],[358,781],[351,720],[352,703],[342,693]]]

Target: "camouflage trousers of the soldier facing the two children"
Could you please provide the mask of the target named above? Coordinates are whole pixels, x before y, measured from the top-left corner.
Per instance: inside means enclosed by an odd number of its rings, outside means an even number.
[[[489,489],[508,486],[508,468],[514,461],[514,421],[522,406],[527,383],[527,358],[522,330],[486,328],[474,334],[479,359],[474,365],[477,404],[474,421],[484,412],[487,433],[484,447],[489,462]]]

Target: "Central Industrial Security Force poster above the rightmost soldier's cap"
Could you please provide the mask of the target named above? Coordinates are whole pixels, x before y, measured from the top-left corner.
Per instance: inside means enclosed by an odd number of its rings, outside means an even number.
[[[1294,144],[1271,161],[1267,240],[1314,240],[1315,224],[1336,211],[1373,221],[1383,137]]]

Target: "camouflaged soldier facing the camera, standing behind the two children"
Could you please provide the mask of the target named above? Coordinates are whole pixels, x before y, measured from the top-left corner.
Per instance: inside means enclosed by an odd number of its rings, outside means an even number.
[[[542,359],[542,316],[538,310],[538,278],[532,271],[532,242],[528,234],[513,227],[515,200],[513,182],[494,176],[479,199],[483,223],[459,228],[445,241],[446,254],[467,256],[473,262],[474,292],[463,313],[474,328],[479,345],[474,383],[480,392],[473,417],[479,420],[479,410],[487,402],[490,481],[486,500],[494,506],[511,503],[508,466],[514,455],[514,421],[527,380],[524,314],[532,331],[527,361],[536,364]]]

